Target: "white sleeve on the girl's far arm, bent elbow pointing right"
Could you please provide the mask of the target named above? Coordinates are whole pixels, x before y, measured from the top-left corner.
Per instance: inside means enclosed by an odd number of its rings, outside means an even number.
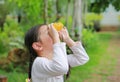
[[[89,57],[83,48],[81,42],[76,42],[76,45],[70,47],[73,54],[68,55],[68,63],[71,67],[79,66],[85,64]]]

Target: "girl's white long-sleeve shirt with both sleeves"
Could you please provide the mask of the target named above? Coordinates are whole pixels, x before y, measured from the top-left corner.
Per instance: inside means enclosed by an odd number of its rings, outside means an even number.
[[[63,75],[71,67],[85,64],[89,57],[78,42],[70,47],[73,54],[66,54],[66,44],[56,43],[53,45],[53,59],[37,57],[32,66],[32,82],[63,82]]]

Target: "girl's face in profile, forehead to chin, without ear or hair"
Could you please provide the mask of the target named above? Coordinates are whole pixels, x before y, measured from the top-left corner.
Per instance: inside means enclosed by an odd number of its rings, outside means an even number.
[[[48,33],[47,25],[43,25],[42,27],[40,27],[39,34],[43,50],[46,52],[53,51],[53,40]]]

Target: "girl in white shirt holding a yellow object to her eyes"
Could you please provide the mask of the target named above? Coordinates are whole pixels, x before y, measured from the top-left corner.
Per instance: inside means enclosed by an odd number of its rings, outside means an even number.
[[[63,82],[69,66],[83,65],[89,60],[81,42],[74,42],[66,28],[58,32],[52,24],[31,28],[25,35],[25,45],[30,53],[32,82]],[[66,54],[66,45],[73,54]]]

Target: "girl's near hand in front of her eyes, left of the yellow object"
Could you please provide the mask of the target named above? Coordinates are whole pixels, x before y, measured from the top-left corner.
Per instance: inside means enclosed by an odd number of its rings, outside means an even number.
[[[53,24],[48,25],[48,33],[51,36],[51,38],[53,39],[53,43],[60,42],[59,34],[58,34],[57,30],[53,27]]]

